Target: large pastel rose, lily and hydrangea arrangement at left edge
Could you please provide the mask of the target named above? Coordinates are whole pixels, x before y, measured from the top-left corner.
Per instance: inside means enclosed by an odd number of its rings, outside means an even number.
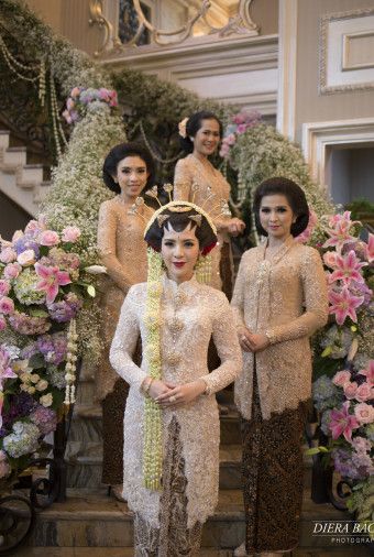
[[[16,478],[56,428],[74,379],[75,319],[95,296],[82,280],[79,237],[77,227],[57,233],[40,217],[1,240],[0,480]],[[74,402],[72,386],[68,394],[66,402]]]

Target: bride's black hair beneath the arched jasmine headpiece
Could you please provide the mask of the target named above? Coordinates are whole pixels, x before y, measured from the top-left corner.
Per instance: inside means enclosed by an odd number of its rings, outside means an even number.
[[[199,240],[199,248],[202,255],[206,255],[210,252],[210,250],[215,248],[217,243],[217,236],[211,229],[211,226],[209,225],[206,217],[201,216],[200,226],[198,226],[195,220],[189,218],[194,215],[200,215],[200,212],[197,212],[193,208],[190,208],[189,211],[185,212],[176,212],[170,209],[165,209],[161,212],[161,215],[165,215],[168,218],[164,220],[161,226],[158,225],[157,218],[155,218],[144,237],[146,243],[151,245],[151,248],[153,248],[155,251],[161,251],[165,229],[168,230],[168,227],[170,226],[176,232],[183,232],[183,230],[185,230],[188,225],[191,226],[191,229],[196,228],[195,234]]]

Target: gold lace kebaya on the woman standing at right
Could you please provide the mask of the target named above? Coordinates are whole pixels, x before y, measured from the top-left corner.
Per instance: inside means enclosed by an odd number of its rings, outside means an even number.
[[[256,374],[264,419],[297,408],[311,394],[309,337],[328,318],[327,280],[317,250],[292,237],[265,260],[266,242],[241,260],[231,306],[237,326],[265,334],[271,346],[256,353]],[[254,356],[243,352],[235,382],[235,403],[251,419]]]

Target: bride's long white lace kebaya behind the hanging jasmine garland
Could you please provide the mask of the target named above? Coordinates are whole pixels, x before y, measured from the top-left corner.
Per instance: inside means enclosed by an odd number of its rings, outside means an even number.
[[[219,413],[213,393],[230,384],[241,371],[241,350],[230,305],[226,296],[199,284],[195,276],[177,285],[163,276],[161,297],[161,354],[163,380],[183,384],[204,379],[210,395],[200,395],[178,408],[162,411],[164,455],[167,429],[175,416],[187,479],[187,514],[190,528],[213,513],[218,501]],[[143,487],[144,393],[141,385],[148,375],[146,359],[141,367],[132,361],[139,335],[146,353],[146,283],[132,286],[123,303],[110,351],[116,371],[130,384],[124,414],[123,495],[130,507],[152,527],[160,527],[160,491]],[[207,369],[210,338],[221,365]]]

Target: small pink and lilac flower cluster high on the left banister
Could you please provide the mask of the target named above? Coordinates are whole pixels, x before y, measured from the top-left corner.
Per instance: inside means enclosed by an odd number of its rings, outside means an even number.
[[[87,111],[110,111],[110,108],[117,106],[117,91],[112,89],[106,89],[105,87],[100,89],[74,87],[66,101],[66,109],[63,112],[63,117],[67,123],[75,123],[81,120]]]

